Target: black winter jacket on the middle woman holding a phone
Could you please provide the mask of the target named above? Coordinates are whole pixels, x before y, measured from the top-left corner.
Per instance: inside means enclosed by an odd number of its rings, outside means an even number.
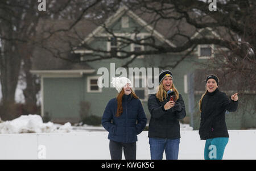
[[[168,98],[167,98],[168,99]],[[160,102],[155,94],[148,98],[148,110],[151,118],[148,126],[148,137],[177,139],[180,138],[180,124],[178,119],[186,115],[185,105],[181,94],[174,107],[164,110],[167,99]]]

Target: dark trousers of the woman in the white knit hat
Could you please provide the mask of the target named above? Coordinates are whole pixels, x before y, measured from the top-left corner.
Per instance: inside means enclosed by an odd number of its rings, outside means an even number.
[[[110,140],[109,150],[112,160],[122,160],[122,152],[126,160],[136,160],[136,142],[121,143]]]

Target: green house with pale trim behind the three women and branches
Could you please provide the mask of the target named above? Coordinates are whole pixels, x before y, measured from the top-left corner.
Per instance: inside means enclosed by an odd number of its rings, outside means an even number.
[[[156,44],[167,47],[176,47],[176,45],[182,43],[182,39],[170,41],[165,38],[171,34],[172,23],[159,23],[157,27],[152,27],[146,22],[148,17],[150,16],[137,15],[135,12],[126,9],[126,7],[122,7],[106,20],[105,26],[112,30],[117,37],[125,36],[129,39],[143,39],[147,41],[146,37],[154,36]],[[57,29],[67,26],[68,23],[70,21],[44,21],[42,25]],[[134,30],[138,30],[138,32],[135,34]],[[134,56],[130,56],[125,59],[114,57],[93,61],[93,59],[97,58],[96,55],[100,56],[103,53],[93,52],[89,47],[84,47],[84,44],[94,49],[108,51],[110,57],[123,55],[122,52],[115,52],[115,49],[120,48],[122,44],[118,43],[117,37],[114,37],[103,27],[97,26],[89,20],[84,20],[77,24],[76,33],[83,39],[80,42],[72,42],[77,43],[76,47],[71,48],[68,43],[72,41],[71,37],[75,36],[75,34],[63,34],[60,37],[52,36],[49,39],[49,49],[38,48],[34,52],[35,59],[31,72],[40,76],[42,116],[49,114],[53,122],[59,123],[78,123],[81,121],[81,115],[84,113],[102,116],[108,101],[116,97],[118,93],[114,87],[111,87],[111,78],[121,74],[125,75],[124,71],[126,70],[126,74],[129,72],[141,73],[134,76],[132,81],[140,83],[140,86],[135,87],[134,90],[141,99],[149,120],[150,113],[147,107],[148,93],[154,92],[155,87],[149,87],[148,80],[154,80],[154,74],[156,74],[156,79],[158,79],[157,73],[160,70],[170,69],[174,76],[175,87],[183,95],[187,111],[186,118],[181,120],[181,122],[191,124],[194,129],[199,128],[200,114],[197,102],[204,91],[204,82],[202,81],[208,73],[204,73],[204,70],[200,68],[200,65],[196,65],[196,63],[198,61],[207,62],[208,59],[214,57],[214,45],[199,45],[192,55],[181,62],[179,61],[186,52],[141,55],[135,59],[133,59]],[[210,29],[201,30],[199,34],[193,28],[187,28],[187,33],[191,37],[202,34],[216,34]],[[65,59],[75,60],[76,62],[54,57],[51,52],[55,50],[55,47],[56,49],[63,49],[61,54]],[[133,52],[144,51],[148,47],[130,44],[122,48]],[[51,51],[51,49],[53,50]],[[91,61],[83,62],[84,60]],[[131,60],[132,62],[130,62],[128,68],[125,67],[126,63]],[[177,62],[179,64],[175,69],[168,67]],[[163,68],[163,66],[166,67]],[[146,76],[143,75],[145,70]],[[150,73],[150,70],[152,73]],[[108,79],[104,80],[104,87],[98,85],[98,78],[102,75],[108,76]],[[201,80],[197,81],[196,78],[199,77]],[[200,87],[200,89],[197,89],[197,87]],[[245,118],[250,117],[249,114],[245,114],[245,116]],[[227,114],[226,119],[229,129],[242,128],[241,115],[236,114],[236,112],[232,115]],[[246,122],[246,125],[249,124],[249,127],[255,127],[255,120],[247,119],[243,120],[243,122]]]

